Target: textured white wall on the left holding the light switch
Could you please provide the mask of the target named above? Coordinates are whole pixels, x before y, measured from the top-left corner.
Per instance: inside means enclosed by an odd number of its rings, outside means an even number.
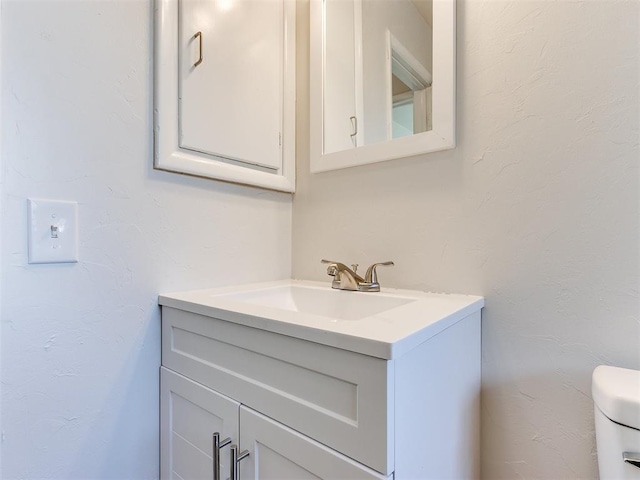
[[[290,275],[290,195],[152,169],[151,20],[2,1],[5,479],[157,477],[157,294]],[[79,202],[78,264],[27,264],[27,197]]]

